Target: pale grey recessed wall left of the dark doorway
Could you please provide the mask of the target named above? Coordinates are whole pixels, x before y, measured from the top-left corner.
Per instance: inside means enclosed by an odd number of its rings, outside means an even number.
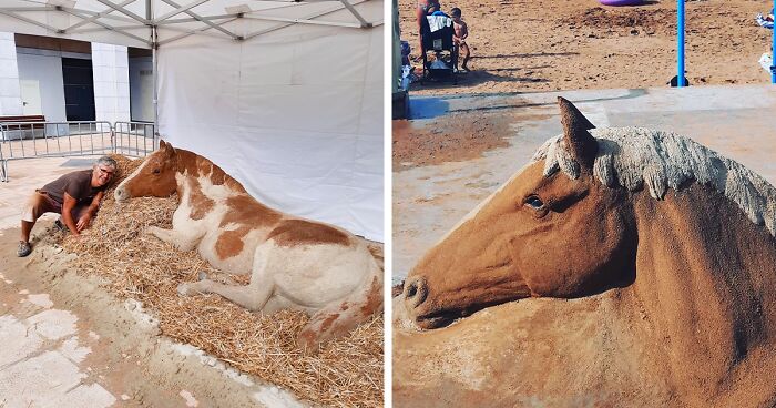
[[[18,48],[17,62],[20,80],[37,80],[40,84],[41,108],[45,120],[65,121],[61,52]]]

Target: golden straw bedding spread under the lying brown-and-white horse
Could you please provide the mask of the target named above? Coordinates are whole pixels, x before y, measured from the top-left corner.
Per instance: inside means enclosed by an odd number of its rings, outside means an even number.
[[[120,166],[115,187],[141,161],[114,159]],[[309,356],[295,345],[308,322],[303,313],[263,316],[218,295],[180,296],[177,285],[196,280],[201,271],[224,283],[247,284],[249,277],[222,273],[196,252],[182,253],[144,234],[150,225],[170,228],[176,206],[175,196],[133,198],[119,205],[111,188],[90,230],[76,239],[62,234],[59,241],[79,255],[72,267],[102,277],[106,289],[119,298],[142,302],[160,320],[165,336],[283,386],[302,399],[330,406],[382,406],[381,316]]]

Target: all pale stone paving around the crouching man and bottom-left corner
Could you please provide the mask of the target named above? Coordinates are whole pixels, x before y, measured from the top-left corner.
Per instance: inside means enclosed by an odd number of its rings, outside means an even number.
[[[89,162],[82,159],[10,162],[10,180],[0,183],[0,230],[19,226],[21,205],[34,188],[61,174],[88,167]],[[33,235],[45,228],[45,221],[55,217],[47,214]],[[18,230],[13,231],[18,234]],[[8,233],[0,231],[2,235]],[[10,268],[6,262],[3,266]],[[3,345],[0,347],[0,407],[98,408],[116,402],[121,395],[114,396],[100,384],[104,376],[101,379],[92,367],[83,366],[100,336],[79,329],[79,317],[54,307],[48,294],[31,293],[7,275],[9,271],[0,269],[0,345]]]

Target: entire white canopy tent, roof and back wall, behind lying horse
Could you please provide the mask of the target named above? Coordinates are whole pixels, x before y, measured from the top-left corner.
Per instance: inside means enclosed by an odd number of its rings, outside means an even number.
[[[377,241],[382,19],[381,0],[0,0],[0,31],[153,49],[162,139]]]

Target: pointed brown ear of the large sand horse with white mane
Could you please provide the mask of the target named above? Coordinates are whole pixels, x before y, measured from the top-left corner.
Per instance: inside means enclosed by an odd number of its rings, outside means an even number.
[[[561,108],[561,123],[563,124],[563,140],[569,153],[582,169],[592,169],[599,143],[588,132],[595,126],[590,123],[576,106],[562,96],[558,96]]]

